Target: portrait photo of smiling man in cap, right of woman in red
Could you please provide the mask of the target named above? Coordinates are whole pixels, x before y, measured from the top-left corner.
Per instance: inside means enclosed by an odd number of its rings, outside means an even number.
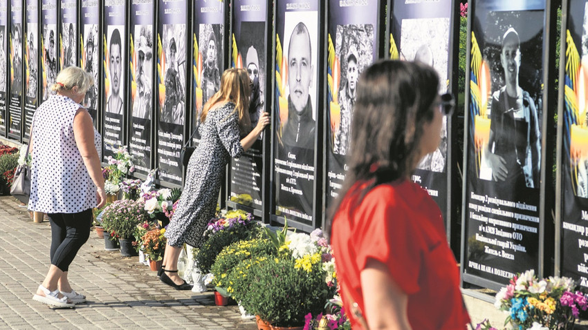
[[[488,133],[479,178],[499,191],[539,188],[543,17],[540,10],[491,11],[481,36],[490,93],[485,114],[475,118],[476,130]]]

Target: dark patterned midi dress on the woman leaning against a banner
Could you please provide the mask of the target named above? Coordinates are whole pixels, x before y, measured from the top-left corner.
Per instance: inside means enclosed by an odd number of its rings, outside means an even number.
[[[226,165],[231,157],[243,153],[238,120],[235,104],[228,102],[210,110],[199,127],[201,142],[190,157],[182,196],[165,231],[169,245],[202,246],[203,233],[217,208]]]

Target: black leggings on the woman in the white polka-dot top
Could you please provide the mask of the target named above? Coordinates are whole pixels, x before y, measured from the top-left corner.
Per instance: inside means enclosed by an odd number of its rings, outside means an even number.
[[[77,251],[90,237],[92,209],[78,213],[49,213],[51,223],[51,264],[68,271]]]

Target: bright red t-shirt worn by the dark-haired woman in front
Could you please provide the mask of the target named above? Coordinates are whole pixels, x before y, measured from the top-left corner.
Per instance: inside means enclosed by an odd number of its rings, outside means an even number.
[[[344,198],[331,231],[345,309],[365,305],[360,272],[367,260],[387,265],[408,295],[412,329],[465,329],[470,318],[459,291],[459,269],[447,243],[441,211],[428,193],[408,180],[380,184],[357,204],[356,184]],[[349,315],[349,313],[348,313]],[[351,316],[350,316],[351,317]],[[353,329],[362,329],[351,317]]]

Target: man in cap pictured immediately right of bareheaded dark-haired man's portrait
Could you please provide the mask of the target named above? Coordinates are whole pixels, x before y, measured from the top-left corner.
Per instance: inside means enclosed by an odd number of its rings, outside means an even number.
[[[137,91],[133,104],[133,117],[151,119],[152,93],[151,93],[151,64],[153,63],[153,43],[151,32],[145,26],[141,27],[140,35],[136,43],[136,84]]]

